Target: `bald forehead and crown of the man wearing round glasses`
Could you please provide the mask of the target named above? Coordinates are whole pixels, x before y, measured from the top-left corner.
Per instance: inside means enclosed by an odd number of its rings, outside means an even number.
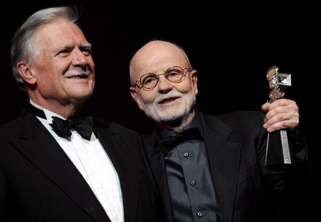
[[[180,49],[169,43],[154,41],[147,43],[134,55],[132,71],[134,77],[140,77],[145,73],[163,73],[169,67],[187,67],[187,61]]]

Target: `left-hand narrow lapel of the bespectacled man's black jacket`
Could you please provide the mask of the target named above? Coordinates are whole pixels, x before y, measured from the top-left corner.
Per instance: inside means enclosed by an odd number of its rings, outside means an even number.
[[[150,136],[144,139],[144,145],[147,149],[147,155],[159,187],[161,199],[163,201],[166,221],[172,221],[173,212],[169,195],[165,157],[158,146],[159,142],[160,139],[158,138],[156,130]]]

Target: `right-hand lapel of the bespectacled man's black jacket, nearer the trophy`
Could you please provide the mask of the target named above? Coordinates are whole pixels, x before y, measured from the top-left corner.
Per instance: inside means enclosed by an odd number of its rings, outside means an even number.
[[[202,115],[211,175],[224,221],[232,221],[241,144],[228,141],[232,129],[215,116]]]

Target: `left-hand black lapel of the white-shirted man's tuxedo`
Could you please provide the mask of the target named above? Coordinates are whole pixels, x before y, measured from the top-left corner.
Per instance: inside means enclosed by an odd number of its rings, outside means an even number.
[[[91,188],[48,130],[33,114],[17,119],[17,137],[9,140],[44,175],[96,221],[110,221]]]

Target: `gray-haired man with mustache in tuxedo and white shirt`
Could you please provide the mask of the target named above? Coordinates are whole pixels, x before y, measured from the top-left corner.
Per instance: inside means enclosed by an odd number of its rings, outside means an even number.
[[[163,221],[141,137],[83,114],[95,65],[70,7],[40,10],[12,40],[30,103],[0,126],[0,220]]]

